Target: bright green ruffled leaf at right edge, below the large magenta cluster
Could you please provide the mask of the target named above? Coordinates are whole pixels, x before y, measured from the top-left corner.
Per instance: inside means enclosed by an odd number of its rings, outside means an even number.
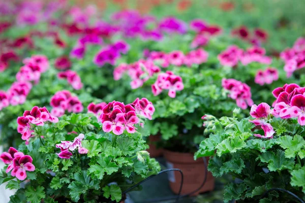
[[[278,144],[285,149],[285,157],[292,158],[305,145],[305,140],[298,134],[294,137],[283,136],[278,138]]]

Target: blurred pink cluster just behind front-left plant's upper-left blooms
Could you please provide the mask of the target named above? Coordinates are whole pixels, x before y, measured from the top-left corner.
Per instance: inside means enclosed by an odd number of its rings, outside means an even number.
[[[56,92],[50,101],[51,114],[57,117],[63,116],[67,110],[69,113],[80,113],[83,111],[83,106],[81,101],[77,96],[72,96],[71,92],[68,90]]]

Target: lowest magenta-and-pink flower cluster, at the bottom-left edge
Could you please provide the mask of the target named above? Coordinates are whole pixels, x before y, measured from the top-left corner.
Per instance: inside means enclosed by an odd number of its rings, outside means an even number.
[[[18,152],[13,147],[10,147],[8,152],[3,152],[0,159],[8,165],[6,173],[12,171],[11,175],[18,180],[23,181],[26,178],[26,171],[35,171],[32,157]]]

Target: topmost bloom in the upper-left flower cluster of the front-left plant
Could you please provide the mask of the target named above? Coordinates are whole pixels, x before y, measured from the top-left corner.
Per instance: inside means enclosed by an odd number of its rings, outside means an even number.
[[[23,116],[28,118],[29,123],[33,123],[39,126],[44,125],[44,122],[48,121],[50,117],[47,112],[41,112],[39,107],[33,107],[31,111],[25,111]]]

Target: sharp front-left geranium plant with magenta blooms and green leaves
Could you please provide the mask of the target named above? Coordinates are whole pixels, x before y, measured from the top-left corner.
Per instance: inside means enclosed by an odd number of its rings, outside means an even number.
[[[123,202],[126,189],[160,171],[144,151],[145,141],[136,131],[143,119],[133,105],[113,101],[100,115],[59,119],[34,107],[17,123],[28,144],[1,154],[7,167],[0,183],[17,189],[11,201]]]

